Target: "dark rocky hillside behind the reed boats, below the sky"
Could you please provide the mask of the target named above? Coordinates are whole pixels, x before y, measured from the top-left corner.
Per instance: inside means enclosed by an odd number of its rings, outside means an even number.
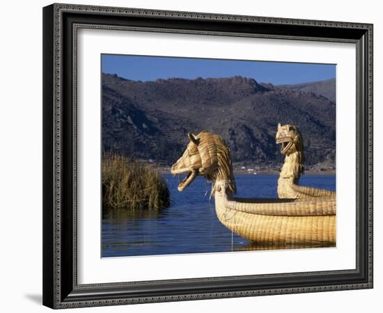
[[[301,129],[308,165],[334,166],[335,104],[323,95],[244,77],[143,82],[103,74],[102,87],[105,151],[171,164],[187,133],[206,129],[224,137],[235,162],[278,166],[281,122]]]

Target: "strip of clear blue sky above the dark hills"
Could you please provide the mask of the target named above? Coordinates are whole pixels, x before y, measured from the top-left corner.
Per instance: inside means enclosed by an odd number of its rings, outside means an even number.
[[[334,78],[336,65],[102,54],[102,72],[134,81],[240,75],[279,85]]]

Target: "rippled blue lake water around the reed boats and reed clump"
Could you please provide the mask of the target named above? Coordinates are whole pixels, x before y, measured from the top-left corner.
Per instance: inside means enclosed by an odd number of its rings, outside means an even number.
[[[279,175],[236,175],[237,197],[278,198]],[[197,177],[185,191],[164,175],[171,207],[161,212],[115,212],[102,220],[102,257],[256,250],[222,225],[209,201],[211,184]],[[335,175],[303,175],[299,184],[335,190]]]

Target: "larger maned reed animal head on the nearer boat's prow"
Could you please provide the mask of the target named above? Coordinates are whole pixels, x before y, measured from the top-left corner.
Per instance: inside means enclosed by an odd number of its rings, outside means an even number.
[[[201,175],[213,183],[217,180],[226,181],[228,189],[235,193],[233,163],[224,139],[209,131],[187,136],[190,142],[184,154],[171,167],[173,175],[187,174],[178,185],[178,191],[183,191],[198,175]]]

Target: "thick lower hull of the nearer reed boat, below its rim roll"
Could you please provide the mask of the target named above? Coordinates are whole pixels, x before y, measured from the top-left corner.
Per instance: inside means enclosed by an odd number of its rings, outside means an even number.
[[[219,220],[236,234],[260,244],[332,245],[336,241],[336,216],[268,216],[230,209],[216,195]]]

